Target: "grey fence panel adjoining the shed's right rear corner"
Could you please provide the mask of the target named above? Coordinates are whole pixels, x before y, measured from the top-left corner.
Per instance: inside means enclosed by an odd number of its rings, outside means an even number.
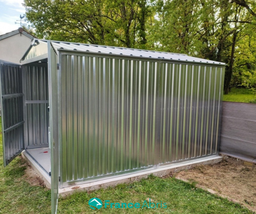
[[[223,102],[220,152],[256,161],[256,104]]]

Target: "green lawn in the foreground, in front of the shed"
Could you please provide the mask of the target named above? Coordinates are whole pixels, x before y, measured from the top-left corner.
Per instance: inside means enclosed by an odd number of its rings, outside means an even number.
[[[27,166],[21,157],[16,158],[4,168],[1,144],[0,134],[0,214],[50,214],[51,191],[29,185],[24,177]],[[114,203],[127,204],[136,202],[142,204],[144,200],[150,198],[153,203],[165,202],[167,208],[101,208],[94,211],[88,206],[88,200],[93,197],[98,197],[103,202],[110,200]],[[227,199],[196,189],[195,184],[185,183],[171,177],[162,179],[150,176],[148,179],[129,185],[119,185],[115,188],[90,193],[80,192],[67,198],[60,198],[58,213],[249,214],[251,212]]]

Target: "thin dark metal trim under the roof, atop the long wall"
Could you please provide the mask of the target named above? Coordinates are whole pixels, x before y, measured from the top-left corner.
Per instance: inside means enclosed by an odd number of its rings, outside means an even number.
[[[106,58],[115,58],[115,59],[134,59],[134,60],[144,60],[144,61],[151,61],[151,62],[163,62],[163,63],[175,63],[175,64],[184,64],[184,65],[198,65],[198,66],[211,66],[211,67],[225,67],[226,64],[224,63],[204,63],[204,62],[191,62],[191,61],[183,61],[183,60],[175,60],[175,59],[165,59],[165,58],[150,58],[150,57],[136,57],[136,56],[127,56],[127,55],[119,55],[119,54],[107,54],[107,53],[95,53],[91,51],[81,51],[81,50],[69,50],[69,49],[57,49],[60,54],[70,54],[73,53],[75,55],[93,55],[99,57],[106,57]]]

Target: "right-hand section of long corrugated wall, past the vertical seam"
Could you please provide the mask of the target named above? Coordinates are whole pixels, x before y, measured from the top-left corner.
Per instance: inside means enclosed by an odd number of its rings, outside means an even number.
[[[222,68],[160,65],[156,96],[158,163],[216,153]]]

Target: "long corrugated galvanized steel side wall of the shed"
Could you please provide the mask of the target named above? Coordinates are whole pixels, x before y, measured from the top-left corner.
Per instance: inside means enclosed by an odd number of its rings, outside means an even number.
[[[217,152],[221,67],[82,55],[61,55],[63,187]]]

